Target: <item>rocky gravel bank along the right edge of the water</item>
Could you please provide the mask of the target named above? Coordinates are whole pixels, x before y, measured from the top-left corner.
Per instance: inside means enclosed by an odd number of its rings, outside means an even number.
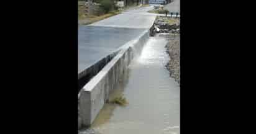
[[[170,55],[166,67],[170,71],[170,76],[180,84],[180,20],[158,16],[150,29],[150,36],[154,36],[155,33],[169,33],[165,35],[168,40],[167,53]]]

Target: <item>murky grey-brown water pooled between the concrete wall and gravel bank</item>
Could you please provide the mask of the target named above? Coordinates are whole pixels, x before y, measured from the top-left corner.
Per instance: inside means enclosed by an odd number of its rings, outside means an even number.
[[[124,95],[129,105],[104,105],[90,128],[102,134],[180,133],[180,86],[165,68],[166,44],[165,37],[149,38],[111,94],[110,100]]]

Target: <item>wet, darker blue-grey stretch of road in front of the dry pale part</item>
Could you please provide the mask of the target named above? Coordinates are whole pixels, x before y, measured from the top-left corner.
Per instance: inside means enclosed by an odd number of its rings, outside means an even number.
[[[78,29],[78,73],[138,37],[144,30],[80,25]]]

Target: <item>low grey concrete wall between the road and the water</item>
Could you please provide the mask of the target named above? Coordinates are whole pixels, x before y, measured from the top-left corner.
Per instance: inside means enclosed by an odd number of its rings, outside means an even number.
[[[130,61],[140,53],[149,38],[149,30],[145,30],[137,40],[119,48],[114,58],[91,79],[78,94],[78,127],[89,126],[108,102],[111,92],[121,78]]]

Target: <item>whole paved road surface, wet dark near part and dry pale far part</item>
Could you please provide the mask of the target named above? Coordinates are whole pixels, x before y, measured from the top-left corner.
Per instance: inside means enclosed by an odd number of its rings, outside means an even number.
[[[78,73],[149,29],[156,17],[147,12],[150,9],[153,7],[140,7],[91,25],[79,25]]]

